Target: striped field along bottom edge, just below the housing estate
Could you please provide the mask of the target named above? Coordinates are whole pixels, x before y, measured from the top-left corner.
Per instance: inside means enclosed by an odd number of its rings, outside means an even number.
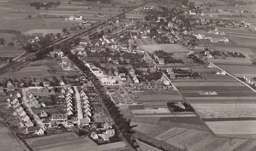
[[[75,133],[58,134],[40,138],[26,139],[27,143],[35,150],[68,151],[68,150],[111,150],[125,147],[124,142],[117,142],[98,146],[88,137],[78,137]]]

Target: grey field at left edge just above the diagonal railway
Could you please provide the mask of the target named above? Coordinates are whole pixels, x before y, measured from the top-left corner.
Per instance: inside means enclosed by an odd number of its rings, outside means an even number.
[[[24,52],[25,50],[21,49],[21,47],[3,46],[0,48],[1,57],[16,57],[23,54]]]

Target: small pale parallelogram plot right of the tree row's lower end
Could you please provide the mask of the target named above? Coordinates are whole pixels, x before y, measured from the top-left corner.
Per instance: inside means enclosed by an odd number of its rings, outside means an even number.
[[[174,137],[184,131],[186,131],[187,129],[186,128],[179,128],[179,127],[173,127],[173,128],[170,128],[170,130],[158,135],[155,137],[155,139],[158,139],[160,141],[162,140],[166,140],[166,139],[169,139],[171,137]]]

